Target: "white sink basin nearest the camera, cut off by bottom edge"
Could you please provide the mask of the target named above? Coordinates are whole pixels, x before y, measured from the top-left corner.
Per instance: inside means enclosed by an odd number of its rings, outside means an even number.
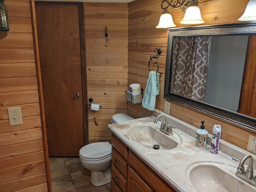
[[[236,168],[222,163],[204,162],[190,166],[186,175],[196,192],[255,192],[256,187],[235,175]]]

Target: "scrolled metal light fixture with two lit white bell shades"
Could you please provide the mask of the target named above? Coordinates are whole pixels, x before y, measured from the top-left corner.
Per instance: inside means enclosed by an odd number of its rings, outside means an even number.
[[[168,6],[164,7],[164,3]],[[198,7],[198,0],[163,0],[161,3],[161,8],[164,10],[162,13],[159,24],[156,28],[171,28],[176,27],[172,20],[172,16],[167,8],[171,6],[174,9],[182,8],[185,12],[185,16],[180,24],[201,24],[204,23],[202,20],[200,9]],[[166,19],[167,18],[167,19]]]

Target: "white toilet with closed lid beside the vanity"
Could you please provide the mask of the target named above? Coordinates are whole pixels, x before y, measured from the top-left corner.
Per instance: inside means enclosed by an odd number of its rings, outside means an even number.
[[[125,113],[112,116],[112,123],[132,120]],[[83,146],[79,150],[82,165],[91,170],[91,182],[94,186],[102,186],[111,182],[112,148],[109,142],[95,142]]]

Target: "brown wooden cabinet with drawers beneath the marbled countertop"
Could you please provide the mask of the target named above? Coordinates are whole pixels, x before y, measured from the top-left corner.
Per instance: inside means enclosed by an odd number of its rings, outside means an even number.
[[[112,134],[112,192],[176,192]]]

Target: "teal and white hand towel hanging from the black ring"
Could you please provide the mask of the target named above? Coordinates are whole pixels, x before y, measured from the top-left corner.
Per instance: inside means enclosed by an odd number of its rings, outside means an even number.
[[[148,81],[142,99],[142,107],[154,111],[156,106],[156,96],[159,95],[159,77],[155,71],[150,71]]]

